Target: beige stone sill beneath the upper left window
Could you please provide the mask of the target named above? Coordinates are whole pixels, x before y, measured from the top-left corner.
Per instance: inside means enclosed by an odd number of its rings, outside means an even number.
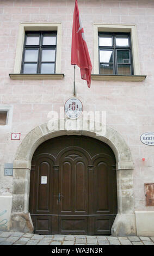
[[[13,80],[60,80],[64,74],[9,74]]]

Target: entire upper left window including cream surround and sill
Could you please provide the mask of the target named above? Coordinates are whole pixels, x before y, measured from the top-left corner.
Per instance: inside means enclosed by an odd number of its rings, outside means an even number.
[[[29,36],[28,43],[27,43],[26,36],[28,33],[31,34],[31,36]],[[39,35],[39,39],[37,39],[38,38],[36,36],[37,34]],[[55,41],[54,42],[48,41],[49,34],[51,34],[52,36],[53,34],[56,35],[56,44],[55,44]],[[39,40],[39,42],[37,40]],[[32,46],[31,47],[32,50],[37,50],[37,49],[39,50],[38,52],[37,51],[27,52],[26,53],[27,56],[26,56],[24,51],[26,51],[26,49],[27,51],[30,50],[30,46]],[[46,51],[43,53],[44,57],[42,59],[43,48],[44,50],[46,48]],[[56,49],[55,55],[54,55],[54,51],[51,51],[52,52],[51,55],[47,56],[47,50],[54,50],[54,49]],[[34,58],[32,58],[32,55]],[[26,56],[26,59],[25,59],[25,56]],[[53,61],[53,56],[55,56],[54,61]],[[27,65],[24,66],[24,64],[27,64]],[[30,64],[33,64],[33,65],[31,65],[32,67],[32,70],[30,69],[31,73],[28,74]],[[50,71],[50,74],[47,73],[48,71]],[[55,79],[61,80],[63,79],[64,74],[61,74],[61,22],[59,23],[55,23],[55,22],[22,23],[21,22],[20,23],[17,46],[16,46],[16,54],[15,54],[14,72],[13,74],[9,74],[9,76],[13,80],[55,80]]]

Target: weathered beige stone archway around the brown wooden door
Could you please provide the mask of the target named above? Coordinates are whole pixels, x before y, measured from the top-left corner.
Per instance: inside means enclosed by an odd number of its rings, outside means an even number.
[[[65,125],[69,121],[67,129]],[[21,142],[14,160],[14,193],[11,214],[11,229],[33,232],[29,214],[29,185],[31,160],[36,148],[42,142],[61,135],[85,135],[96,138],[112,148],[116,158],[118,214],[115,218],[112,235],[135,235],[135,215],[133,205],[133,162],[131,151],[121,135],[106,126],[106,130],[96,132],[89,128],[89,120],[82,120],[78,129],[76,120],[59,119],[52,125],[45,123],[35,127]],[[62,124],[62,125],[61,125]],[[62,129],[61,129],[62,127]],[[96,126],[95,126],[96,127]],[[98,127],[98,126],[97,126]]]

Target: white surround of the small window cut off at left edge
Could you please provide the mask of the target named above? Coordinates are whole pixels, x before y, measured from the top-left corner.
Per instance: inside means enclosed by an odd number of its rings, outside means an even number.
[[[0,104],[0,112],[1,111],[7,111],[7,120],[5,125],[0,125],[0,132],[10,131],[13,119],[13,106]]]

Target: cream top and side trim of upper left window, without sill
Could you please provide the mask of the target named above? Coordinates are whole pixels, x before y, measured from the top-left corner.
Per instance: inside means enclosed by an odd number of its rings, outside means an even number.
[[[61,72],[61,23],[56,23],[56,22],[55,23],[54,22],[20,23],[17,46],[16,46],[14,74],[20,74],[25,31],[40,31],[40,30],[57,31],[56,74],[60,74]]]

